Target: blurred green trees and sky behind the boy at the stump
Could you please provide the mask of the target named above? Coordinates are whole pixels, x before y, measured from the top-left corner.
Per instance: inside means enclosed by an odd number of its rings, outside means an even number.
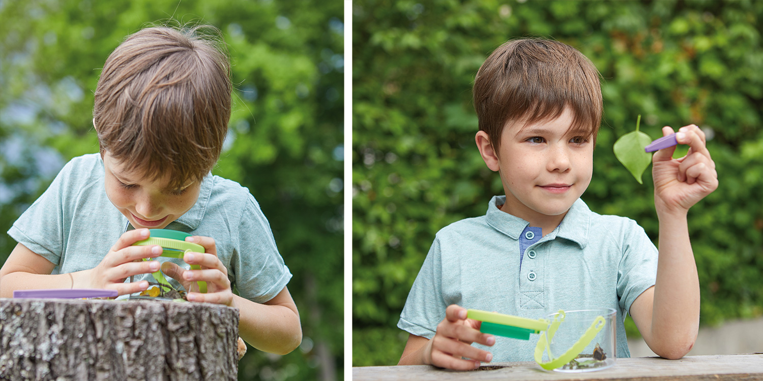
[[[108,54],[170,18],[223,32],[236,90],[214,173],[249,187],[294,274],[301,347],[285,356],[249,347],[239,379],[341,379],[341,2],[0,2],[0,264],[15,245],[5,234],[14,220],[69,158],[98,152],[92,92]]]

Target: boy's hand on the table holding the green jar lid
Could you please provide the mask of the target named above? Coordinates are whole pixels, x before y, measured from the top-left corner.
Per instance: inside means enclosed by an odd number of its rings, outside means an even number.
[[[472,370],[480,361],[490,362],[493,355],[472,347],[472,342],[495,344],[493,335],[479,331],[482,322],[466,319],[466,309],[452,304],[445,310],[445,319],[437,325],[432,340],[427,343],[424,361],[436,367],[456,370]],[[467,357],[472,360],[463,360]]]

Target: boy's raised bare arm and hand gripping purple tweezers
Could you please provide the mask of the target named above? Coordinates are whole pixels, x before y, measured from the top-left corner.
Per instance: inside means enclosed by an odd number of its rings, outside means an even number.
[[[662,133],[667,136],[673,129],[663,127]],[[686,156],[672,158],[673,146],[652,158],[659,220],[657,279],[630,308],[646,344],[669,359],[684,357],[691,350],[700,322],[700,285],[687,213],[718,187],[715,163],[702,130],[694,125],[681,127],[676,139],[690,146]]]

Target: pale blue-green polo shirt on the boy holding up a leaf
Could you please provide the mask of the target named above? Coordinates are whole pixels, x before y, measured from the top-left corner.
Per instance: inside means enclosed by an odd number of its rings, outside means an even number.
[[[529,319],[564,309],[617,311],[617,357],[630,357],[623,321],[631,304],[655,284],[657,248],[633,219],[602,216],[576,200],[562,223],[541,229],[497,208],[437,232],[398,328],[433,338],[446,307],[457,304]],[[533,361],[530,341],[497,337],[493,361]]]

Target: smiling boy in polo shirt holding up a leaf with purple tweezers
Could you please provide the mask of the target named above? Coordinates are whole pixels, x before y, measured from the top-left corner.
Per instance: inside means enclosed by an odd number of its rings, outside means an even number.
[[[675,147],[653,157],[665,238],[658,255],[633,220],[593,213],[579,198],[591,181],[603,107],[598,72],[578,50],[551,40],[504,43],[479,69],[474,102],[475,141],[505,196],[493,197],[485,216],[437,233],[398,322],[410,333],[400,364],[468,370],[533,360],[534,342],[482,334],[468,308],[538,319],[609,307],[618,312],[617,357],[629,357],[626,313],[656,354],[687,354],[700,310],[687,210],[718,184],[702,131],[679,130],[678,142],[691,147],[683,158],[672,158]]]

